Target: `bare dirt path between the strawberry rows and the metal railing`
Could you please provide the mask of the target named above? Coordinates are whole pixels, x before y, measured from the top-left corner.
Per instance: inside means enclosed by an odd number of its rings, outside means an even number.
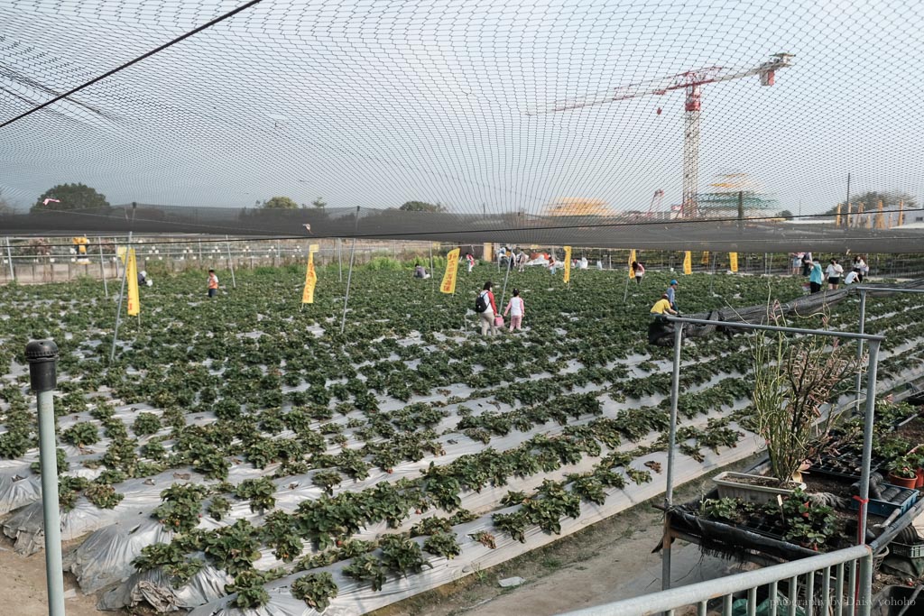
[[[748,459],[723,470],[751,464],[752,459]],[[675,500],[692,500],[712,485],[711,475],[701,477],[676,490]],[[651,506],[651,501],[645,502],[545,548],[373,613],[376,616],[552,616],[638,597],[661,589],[661,554],[652,554],[651,550],[661,540],[662,525],[663,514]],[[676,541],[673,585],[734,574],[749,566],[703,557],[699,546]],[[513,576],[525,578],[526,583],[509,589],[498,586],[498,580]]]

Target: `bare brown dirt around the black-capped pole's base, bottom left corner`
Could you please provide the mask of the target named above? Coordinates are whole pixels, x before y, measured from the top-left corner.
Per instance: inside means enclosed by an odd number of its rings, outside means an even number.
[[[67,616],[116,614],[97,610],[96,598],[80,594],[72,574],[65,574],[64,587]],[[0,613],[47,616],[46,592],[44,552],[22,556],[13,551],[11,540],[6,537],[0,540]]]

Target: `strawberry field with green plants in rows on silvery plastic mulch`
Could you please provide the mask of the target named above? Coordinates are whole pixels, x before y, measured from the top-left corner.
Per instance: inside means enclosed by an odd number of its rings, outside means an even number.
[[[223,272],[218,272],[222,276]],[[227,276],[222,276],[227,280]],[[346,277],[345,277],[346,279]],[[142,288],[120,327],[96,282],[7,285],[0,296],[0,513],[16,549],[41,549],[34,400],[21,353],[61,348],[55,400],[65,566],[101,606],[232,613],[268,606],[362,613],[504,562],[663,491],[672,349],[647,344],[669,274],[512,272],[524,331],[476,333],[455,296],[375,262],[346,284],[319,269],[237,272]],[[802,294],[802,280],[685,276],[685,313]],[[710,290],[711,289],[711,290]],[[870,299],[887,336],[881,388],[919,371],[924,298]],[[857,331],[857,299],[796,324]],[[912,359],[913,358],[913,359]],[[758,451],[748,426],[748,336],[683,349],[678,481]],[[743,427],[744,426],[744,427]],[[198,608],[198,610],[197,610]]]

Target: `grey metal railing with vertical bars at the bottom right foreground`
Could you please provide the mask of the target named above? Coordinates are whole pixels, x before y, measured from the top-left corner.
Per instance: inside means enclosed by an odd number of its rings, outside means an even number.
[[[647,616],[696,607],[698,616],[721,610],[723,616],[744,611],[754,616],[759,607],[769,616],[813,613],[832,616],[869,616],[872,604],[872,549],[853,546],[800,561],[784,562],[756,571],[728,575],[699,584],[627,598],[566,616]],[[763,589],[763,592],[761,592]],[[736,595],[745,601],[735,605]],[[765,601],[769,601],[765,606]],[[761,610],[763,611],[763,610]]]

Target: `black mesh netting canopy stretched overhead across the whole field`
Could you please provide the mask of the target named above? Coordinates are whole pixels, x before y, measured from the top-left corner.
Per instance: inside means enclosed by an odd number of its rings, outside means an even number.
[[[922,246],[918,2],[0,13],[8,234]]]

